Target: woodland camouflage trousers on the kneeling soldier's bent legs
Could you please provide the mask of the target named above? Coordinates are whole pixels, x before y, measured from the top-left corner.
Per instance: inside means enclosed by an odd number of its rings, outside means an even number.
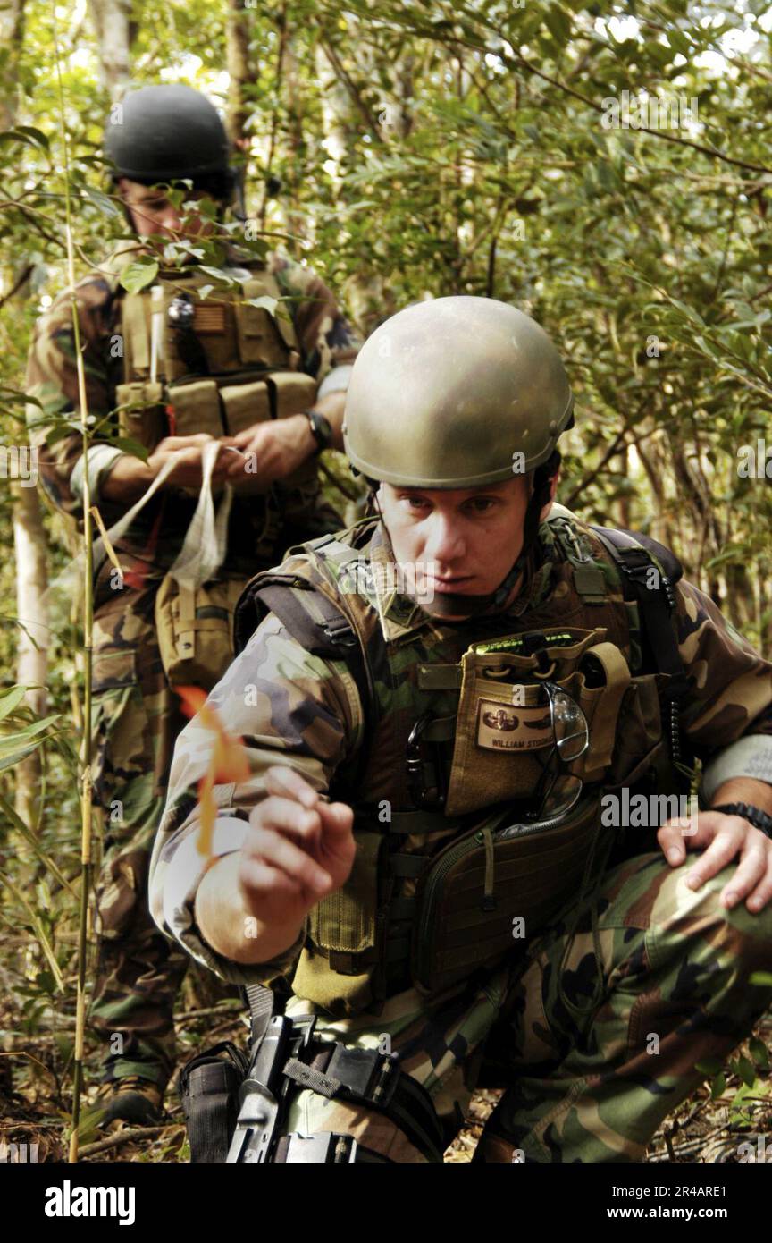
[[[705,1079],[696,1064],[722,1062],[772,1002],[772,987],[750,982],[770,971],[772,904],[726,911],[719,892],[734,865],[693,892],[694,858],[678,869],[660,854],[618,864],[595,920],[592,904],[576,904],[472,998],[429,1008],[408,991],[377,1017],[320,1013],[318,1033],[391,1049],[432,1096],[447,1144],[475,1086],[505,1086],[475,1161],[642,1161]],[[294,997],[287,1013],[313,1009]],[[392,1161],[427,1160],[384,1115],[307,1089],[285,1131],[351,1134]]]

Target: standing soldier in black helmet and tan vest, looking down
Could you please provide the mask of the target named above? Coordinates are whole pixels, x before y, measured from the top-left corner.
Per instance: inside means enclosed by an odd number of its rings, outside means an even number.
[[[309,267],[272,252],[257,262],[233,245],[225,211],[236,174],[204,96],[186,86],[129,93],[113,109],[105,149],[137,241],[74,291],[96,420],[91,497],[115,532],[123,572],[104,561],[94,583],[93,781],[104,853],[91,1021],[109,1042],[103,1120],[153,1122],[175,1064],[173,1007],[187,965],[153,925],[146,894],[185,723],[174,687],[209,689],[227,667],[233,604],[256,568],[340,525],[321,498],[316,455],[343,447],[359,343]],[[192,189],[175,199],[180,179]],[[181,198],[191,200],[185,216]],[[211,250],[209,271],[195,266],[202,245],[215,246],[217,271]],[[175,251],[182,262],[165,267]],[[120,275],[146,256],[160,260],[153,287],[127,292]],[[57,428],[47,438],[57,419],[79,416],[74,351],[66,291],[38,321],[27,389],[42,405],[29,420],[45,493],[71,530],[82,523],[81,435]],[[101,440],[110,425],[123,440]]]

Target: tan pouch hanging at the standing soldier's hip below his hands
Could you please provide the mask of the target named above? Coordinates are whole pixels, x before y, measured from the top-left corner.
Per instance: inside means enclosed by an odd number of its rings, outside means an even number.
[[[170,686],[211,690],[233,660],[233,612],[242,579],[186,587],[171,574],[155,597],[155,629]]]

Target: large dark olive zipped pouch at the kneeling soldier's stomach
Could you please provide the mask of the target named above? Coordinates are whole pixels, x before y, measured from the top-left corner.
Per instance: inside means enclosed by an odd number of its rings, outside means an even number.
[[[599,796],[557,823],[499,813],[434,855],[417,889],[416,988],[442,993],[524,948],[578,896],[599,823]]]

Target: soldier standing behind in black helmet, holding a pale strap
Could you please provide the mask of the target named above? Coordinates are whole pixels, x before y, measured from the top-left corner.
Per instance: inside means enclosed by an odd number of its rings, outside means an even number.
[[[145,87],[128,94],[122,108],[120,127],[110,132],[108,126],[107,144],[115,163],[117,189],[139,240],[120,245],[107,264],[84,277],[76,286],[74,298],[88,410],[97,429],[88,450],[91,496],[105,527],[120,520],[165,464],[174,460],[164,486],[115,542],[123,579],[117,579],[104,561],[94,584],[93,779],[96,804],[104,815],[104,851],[98,886],[99,960],[91,1021],[105,1044],[109,1043],[105,1086],[101,1093],[104,1119],[141,1122],[159,1117],[163,1090],[174,1069],[173,1006],[189,961],[159,933],[148,912],[149,854],[163,808],[171,748],[185,723],[159,651],[156,594],[196,511],[202,450],[212,439],[240,450],[220,451],[213,470],[215,496],[222,496],[225,485],[231,485],[235,493],[227,551],[218,569],[231,609],[256,567],[274,564],[290,543],[339,525],[321,497],[314,457],[324,444],[343,444],[343,393],[359,342],[333,293],[310,267],[276,252],[256,265],[252,254],[226,237],[222,271],[230,275],[231,283],[238,287],[242,282],[245,291],[254,292],[248,282],[263,282],[276,298],[283,300],[278,305],[287,311],[277,327],[278,321],[266,311],[251,308],[243,293],[232,312],[230,303],[220,310],[216,290],[209,302],[195,307],[201,367],[205,373],[216,373],[237,365],[245,374],[252,367],[259,380],[261,375],[274,374],[278,359],[283,375],[305,384],[303,392],[310,392],[308,401],[294,406],[298,413],[272,406],[274,418],[268,418],[267,406],[259,415],[257,405],[251,413],[247,403],[236,425],[223,423],[220,428],[211,421],[197,424],[194,413],[184,431],[175,435],[171,420],[175,411],[179,420],[180,410],[185,410],[185,392],[194,390],[191,385],[180,387],[179,401],[175,397],[174,404],[166,404],[165,414],[160,406],[161,430],[143,441],[149,450],[146,464],[127,452],[123,444],[117,445],[114,411],[120,404],[117,395],[120,385],[155,380],[148,359],[140,357],[146,323],[143,303],[149,291],[127,296],[119,277],[128,264],[141,257],[143,244],[144,251],[151,252],[153,247],[144,242],[150,235],[191,237],[192,244],[196,236],[211,239],[217,227],[211,216],[192,210],[184,221],[181,209],[156,183],[190,178],[192,189],[187,198],[215,200],[222,218],[233,180],[222,122],[197,92],[189,87]],[[182,282],[190,270],[169,275],[169,296],[181,288],[182,297],[190,298]],[[210,273],[205,280],[210,290],[216,286],[216,276]],[[66,516],[72,533],[82,526],[86,464],[77,430],[79,400],[71,297],[71,291],[61,293],[37,323],[27,390],[42,406],[41,410],[30,405],[29,421],[32,443],[38,447],[45,496]],[[134,316],[130,323],[129,306]],[[236,318],[227,318],[231,314]],[[218,359],[226,347],[236,362],[221,368]],[[247,347],[251,353],[243,353]],[[175,360],[175,374],[189,370],[190,363],[175,354],[171,328],[165,348],[159,379],[164,378],[164,368],[168,378],[173,374]],[[268,363],[261,362],[263,348],[273,351],[273,372]],[[220,354],[213,353],[217,349]],[[194,378],[195,372],[194,364]],[[233,384],[240,379],[243,375],[237,374]],[[264,383],[253,384],[254,392],[261,388],[267,392]],[[238,395],[246,390],[228,392]],[[313,419],[304,413],[305,405],[314,406]],[[215,404],[216,423],[220,409],[225,410],[223,419],[228,414],[227,404]],[[58,429],[66,419],[71,424],[61,434]],[[144,424],[138,420],[138,426]],[[53,429],[56,436],[51,435]],[[109,439],[108,431],[113,434]],[[134,439],[141,435],[138,433]],[[246,476],[243,462],[249,454],[257,461],[257,470]],[[227,624],[230,610],[218,612]],[[212,680],[226,664],[227,659],[215,670]],[[187,680],[196,681],[192,676]]]

